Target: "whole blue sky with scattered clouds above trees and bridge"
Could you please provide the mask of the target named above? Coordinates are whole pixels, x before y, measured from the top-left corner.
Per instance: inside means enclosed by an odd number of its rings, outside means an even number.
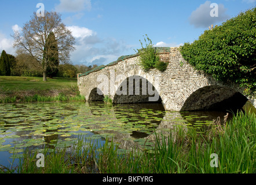
[[[30,20],[38,3],[59,12],[72,31],[72,64],[101,65],[134,54],[145,34],[155,46],[193,42],[211,24],[253,8],[256,0],[0,0],[0,51],[15,55],[10,35]],[[218,5],[217,17],[210,16],[211,3]]]

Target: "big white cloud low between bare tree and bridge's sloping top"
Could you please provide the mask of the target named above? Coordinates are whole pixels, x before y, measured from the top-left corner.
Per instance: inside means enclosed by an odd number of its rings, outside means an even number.
[[[75,38],[76,50],[71,53],[73,64],[106,65],[122,55],[128,46],[114,38],[101,39],[92,29],[85,27],[67,27]]]

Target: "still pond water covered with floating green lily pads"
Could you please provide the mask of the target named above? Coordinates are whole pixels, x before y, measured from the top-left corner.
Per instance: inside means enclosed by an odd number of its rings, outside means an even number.
[[[140,147],[154,130],[170,134],[209,127],[226,112],[170,112],[161,103],[9,103],[0,105],[0,165],[10,166],[24,150],[72,146],[78,137],[103,145],[113,138],[121,150]],[[150,142],[150,140],[149,140]],[[144,145],[145,146],[145,145]],[[17,162],[17,159],[15,160]]]

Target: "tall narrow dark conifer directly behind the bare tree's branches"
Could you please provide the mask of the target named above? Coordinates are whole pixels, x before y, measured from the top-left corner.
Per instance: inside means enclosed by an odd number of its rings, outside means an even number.
[[[47,47],[47,45],[50,45],[50,47]],[[58,65],[60,64],[60,62],[58,61],[57,40],[53,32],[50,32],[50,34],[46,39],[46,48],[50,49],[50,51],[45,52],[45,57],[49,58],[49,63],[47,64],[47,68],[46,68],[46,75],[49,77],[53,77],[57,75]],[[46,56],[46,53],[49,56]]]

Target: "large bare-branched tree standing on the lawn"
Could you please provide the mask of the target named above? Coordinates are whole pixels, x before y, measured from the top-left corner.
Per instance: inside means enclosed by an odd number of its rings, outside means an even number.
[[[53,36],[49,36],[53,33]],[[13,35],[14,47],[29,54],[36,61],[35,66],[41,69],[43,81],[46,81],[47,66],[53,67],[52,58],[58,58],[65,63],[70,58],[70,52],[74,51],[75,38],[71,31],[61,23],[61,16],[56,12],[45,12],[44,17],[31,16],[22,30]],[[47,41],[47,38],[48,41]],[[46,42],[47,41],[47,42]],[[53,49],[56,47],[57,49]]]

